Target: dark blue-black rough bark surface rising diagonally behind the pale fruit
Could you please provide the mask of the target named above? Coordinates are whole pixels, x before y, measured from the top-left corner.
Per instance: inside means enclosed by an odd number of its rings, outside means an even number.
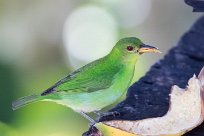
[[[169,108],[169,93],[172,85],[185,87],[193,74],[198,75],[204,66],[204,16],[185,33],[178,45],[164,59],[154,64],[149,72],[128,90],[127,97],[104,116],[107,120],[140,120],[160,117]],[[204,123],[185,134],[203,136]]]

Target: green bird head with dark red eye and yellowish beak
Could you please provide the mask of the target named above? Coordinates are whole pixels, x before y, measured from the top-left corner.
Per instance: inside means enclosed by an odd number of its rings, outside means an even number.
[[[126,59],[137,57],[143,53],[161,53],[158,48],[146,45],[136,37],[120,39],[113,48],[113,51],[119,52]]]

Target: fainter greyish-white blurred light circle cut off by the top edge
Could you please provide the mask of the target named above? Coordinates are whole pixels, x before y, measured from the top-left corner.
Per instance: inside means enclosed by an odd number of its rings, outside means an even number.
[[[92,0],[114,13],[123,28],[132,28],[145,21],[151,11],[151,0]]]

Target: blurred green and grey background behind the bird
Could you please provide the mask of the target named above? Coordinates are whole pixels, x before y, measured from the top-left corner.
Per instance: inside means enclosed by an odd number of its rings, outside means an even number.
[[[163,54],[145,54],[134,81],[176,45],[200,16],[178,0],[0,0],[0,136],[80,136],[88,121],[71,109],[11,102],[40,93],[78,67],[137,36]]]

